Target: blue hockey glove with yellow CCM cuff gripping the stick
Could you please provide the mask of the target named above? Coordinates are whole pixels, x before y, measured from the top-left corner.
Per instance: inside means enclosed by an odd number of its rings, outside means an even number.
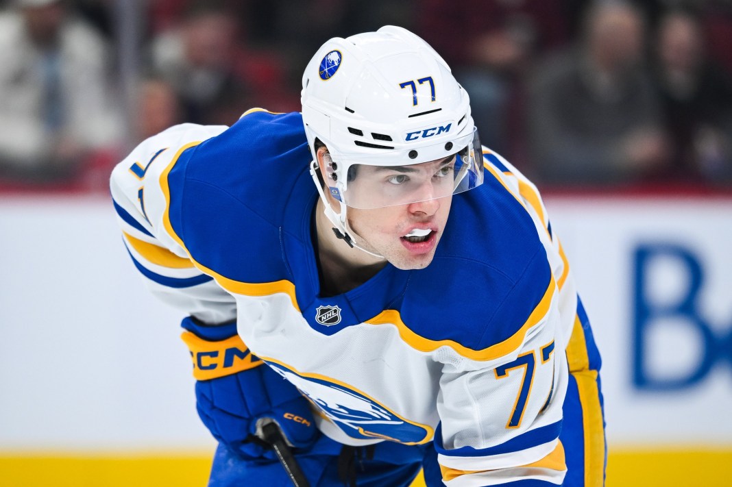
[[[236,334],[236,323],[208,326],[187,317],[181,325],[193,358],[198,415],[219,442],[245,457],[276,459],[257,436],[269,418],[291,446],[307,448],[315,442],[310,403],[249,352]]]

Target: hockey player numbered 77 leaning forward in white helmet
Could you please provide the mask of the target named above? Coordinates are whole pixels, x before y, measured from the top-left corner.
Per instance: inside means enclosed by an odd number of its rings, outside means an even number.
[[[602,485],[600,356],[559,239],[419,37],[330,39],[302,113],[172,127],[111,190],[187,314],[209,485],[289,485],[273,424],[311,486]]]

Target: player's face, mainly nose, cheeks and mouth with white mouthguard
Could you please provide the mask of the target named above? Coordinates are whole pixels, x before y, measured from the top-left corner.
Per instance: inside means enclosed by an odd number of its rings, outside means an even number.
[[[435,255],[452,204],[452,172],[449,172],[449,178],[444,177],[442,173],[447,172],[445,167],[444,161],[434,161],[425,163],[421,168],[428,168],[432,173],[442,176],[425,178],[421,189],[425,192],[425,200],[382,208],[348,208],[348,225],[356,234],[359,245],[370,252],[383,255],[400,269],[427,267]],[[359,169],[356,179],[370,177],[362,169],[364,168]],[[379,179],[384,178],[382,173],[383,171],[378,172]],[[405,175],[409,176],[410,173],[397,172],[393,178],[395,181],[406,181]],[[418,174],[412,174],[412,179],[416,179],[416,175]],[[430,197],[435,194],[444,195],[444,192],[436,189],[443,179],[449,181],[447,196]]]

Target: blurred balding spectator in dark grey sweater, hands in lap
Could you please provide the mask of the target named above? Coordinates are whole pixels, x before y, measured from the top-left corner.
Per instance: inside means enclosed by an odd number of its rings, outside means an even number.
[[[636,181],[667,156],[656,94],[644,72],[645,29],[630,4],[587,12],[577,48],[538,69],[529,107],[537,177],[561,184]]]

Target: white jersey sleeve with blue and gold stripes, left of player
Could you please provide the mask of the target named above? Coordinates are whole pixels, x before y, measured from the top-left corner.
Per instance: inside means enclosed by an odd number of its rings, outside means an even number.
[[[110,188],[122,240],[147,287],[157,298],[202,322],[236,318],[234,298],[212,277],[195,267],[179,241],[165,227],[168,181],[161,175],[180,154],[227,127],[181,124],[143,141],[117,165]],[[177,189],[182,191],[182,188]]]

